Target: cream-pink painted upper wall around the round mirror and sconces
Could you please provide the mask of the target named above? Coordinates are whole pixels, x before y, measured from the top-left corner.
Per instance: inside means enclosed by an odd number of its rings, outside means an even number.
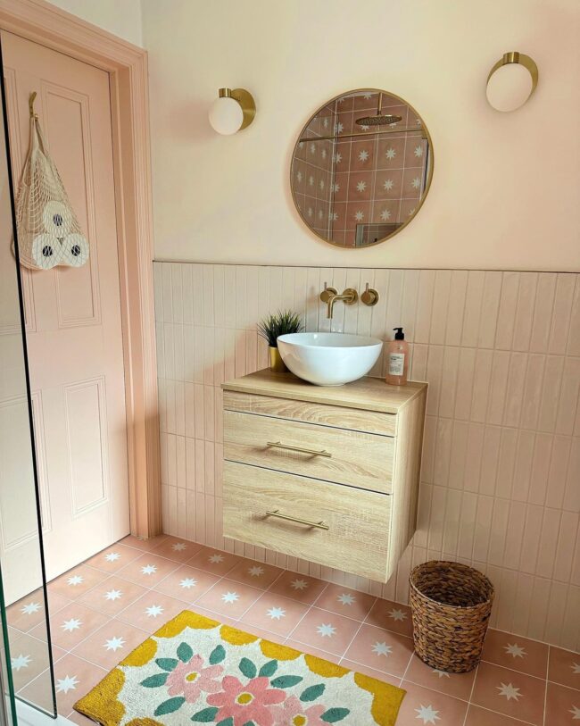
[[[159,259],[364,267],[580,270],[577,0],[142,0],[150,53]],[[540,68],[532,100],[493,111],[485,79],[507,50]],[[312,69],[317,71],[313,72]],[[258,115],[213,133],[220,86]],[[435,176],[393,240],[339,250],[294,212],[302,124],[362,86],[406,97],[434,138]]]

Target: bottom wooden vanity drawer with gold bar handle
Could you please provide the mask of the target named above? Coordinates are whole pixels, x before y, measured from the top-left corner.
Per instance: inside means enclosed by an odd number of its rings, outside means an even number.
[[[223,486],[225,537],[386,581],[389,495],[234,462]]]

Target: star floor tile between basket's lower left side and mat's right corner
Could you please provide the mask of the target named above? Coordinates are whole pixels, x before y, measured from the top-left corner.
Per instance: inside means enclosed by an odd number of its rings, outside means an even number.
[[[363,624],[344,657],[402,678],[412,652],[413,641],[407,636]]]

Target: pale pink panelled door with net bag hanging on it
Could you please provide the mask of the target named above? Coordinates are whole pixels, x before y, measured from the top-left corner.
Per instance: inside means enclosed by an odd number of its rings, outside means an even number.
[[[29,94],[37,91],[46,142],[90,246],[83,267],[23,271],[52,579],[129,531],[109,76],[12,33],[1,38],[15,185],[29,142]],[[17,516],[18,497],[1,486],[0,509]],[[0,546],[25,564],[25,543]],[[29,589],[22,582],[19,595]]]

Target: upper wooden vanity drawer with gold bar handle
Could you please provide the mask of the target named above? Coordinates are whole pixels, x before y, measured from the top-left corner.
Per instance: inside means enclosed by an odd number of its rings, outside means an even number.
[[[224,458],[390,493],[394,438],[254,413],[224,412]]]

